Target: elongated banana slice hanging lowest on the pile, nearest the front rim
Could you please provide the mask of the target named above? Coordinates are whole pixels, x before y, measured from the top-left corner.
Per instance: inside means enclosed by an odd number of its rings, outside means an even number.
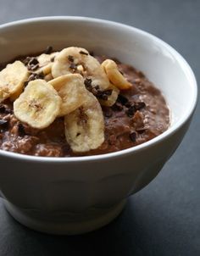
[[[87,152],[104,142],[103,112],[91,92],[79,109],[64,117],[66,140],[74,152]]]

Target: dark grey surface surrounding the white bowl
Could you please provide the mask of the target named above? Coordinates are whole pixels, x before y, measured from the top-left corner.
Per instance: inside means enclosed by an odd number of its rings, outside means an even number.
[[[200,81],[200,1],[0,0],[0,24],[47,15],[111,19],[175,47]],[[0,255],[200,255],[200,105],[164,169],[131,197],[117,220],[77,237],[47,236],[19,225],[0,200]]]

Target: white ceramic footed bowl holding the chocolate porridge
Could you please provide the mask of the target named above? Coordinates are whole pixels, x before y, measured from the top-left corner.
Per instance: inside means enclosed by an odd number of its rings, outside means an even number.
[[[0,150],[0,189],[8,212],[54,234],[92,231],[113,220],[125,198],[153,180],[180,144],[197,103],[191,68],[168,44],[128,25],[82,17],[25,19],[0,26],[0,59],[53,48],[86,47],[142,70],[171,110],[168,131],[116,153],[40,158]]]

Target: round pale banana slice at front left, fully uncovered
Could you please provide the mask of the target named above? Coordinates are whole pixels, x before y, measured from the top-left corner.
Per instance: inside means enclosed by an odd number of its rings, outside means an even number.
[[[41,79],[30,81],[14,102],[14,114],[33,128],[43,129],[59,114],[61,98],[53,86]]]

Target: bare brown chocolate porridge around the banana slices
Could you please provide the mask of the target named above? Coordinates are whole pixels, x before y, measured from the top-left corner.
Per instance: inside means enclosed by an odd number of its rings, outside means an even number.
[[[94,57],[100,63],[106,59]],[[113,106],[102,106],[105,139],[100,147],[84,153],[73,152],[65,139],[64,117],[56,118],[47,128],[32,128],[14,116],[13,102],[6,99],[0,103],[0,149],[43,157],[88,156],[134,147],[166,131],[169,108],[161,92],[141,71],[116,59],[115,62],[132,86],[119,92]],[[32,76],[32,80],[38,79],[38,74]]]

